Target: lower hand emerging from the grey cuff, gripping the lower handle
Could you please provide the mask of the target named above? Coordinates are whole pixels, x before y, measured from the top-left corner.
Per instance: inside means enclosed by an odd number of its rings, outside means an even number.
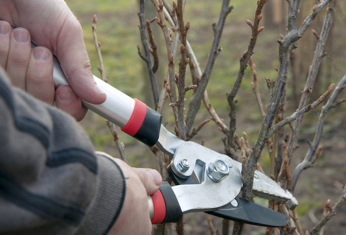
[[[125,176],[126,195],[120,215],[108,235],[151,235],[148,195],[160,188],[161,175],[153,169],[132,168],[120,159],[114,160]]]

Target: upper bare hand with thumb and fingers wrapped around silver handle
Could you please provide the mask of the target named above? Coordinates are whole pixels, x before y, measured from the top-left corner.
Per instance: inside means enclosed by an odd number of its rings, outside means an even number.
[[[77,120],[87,112],[81,98],[95,104],[105,101],[92,78],[82,27],[64,0],[1,0],[0,20],[0,66],[14,86],[47,103],[55,100]],[[31,41],[43,47],[31,51]],[[71,85],[55,92],[52,53]]]

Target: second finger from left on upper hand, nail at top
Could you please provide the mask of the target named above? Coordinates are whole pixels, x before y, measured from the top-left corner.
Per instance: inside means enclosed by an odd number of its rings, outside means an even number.
[[[6,72],[12,85],[26,90],[26,72],[31,54],[31,39],[28,30],[15,28],[11,32]]]

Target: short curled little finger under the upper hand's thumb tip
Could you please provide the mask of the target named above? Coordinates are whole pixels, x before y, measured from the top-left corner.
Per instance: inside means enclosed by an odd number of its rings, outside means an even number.
[[[63,85],[56,89],[55,104],[56,107],[75,117],[77,121],[82,120],[87,113],[87,108],[82,106],[81,99],[70,86]]]

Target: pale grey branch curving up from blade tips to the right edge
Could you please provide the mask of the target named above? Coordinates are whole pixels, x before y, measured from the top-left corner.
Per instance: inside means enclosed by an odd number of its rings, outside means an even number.
[[[313,166],[316,160],[316,157],[314,157],[314,154],[321,140],[324,123],[327,119],[327,112],[331,107],[333,107],[334,101],[337,99],[338,95],[344,90],[345,86],[346,86],[346,75],[343,77],[343,79],[341,79],[338,86],[334,90],[333,94],[331,94],[331,96],[329,97],[327,103],[322,107],[320,116],[318,118],[317,130],[313,138],[313,141],[310,145],[310,149],[306,153],[304,160],[296,167],[296,169],[293,172],[291,192],[294,192],[298,178],[300,174],[302,173],[302,171]]]

